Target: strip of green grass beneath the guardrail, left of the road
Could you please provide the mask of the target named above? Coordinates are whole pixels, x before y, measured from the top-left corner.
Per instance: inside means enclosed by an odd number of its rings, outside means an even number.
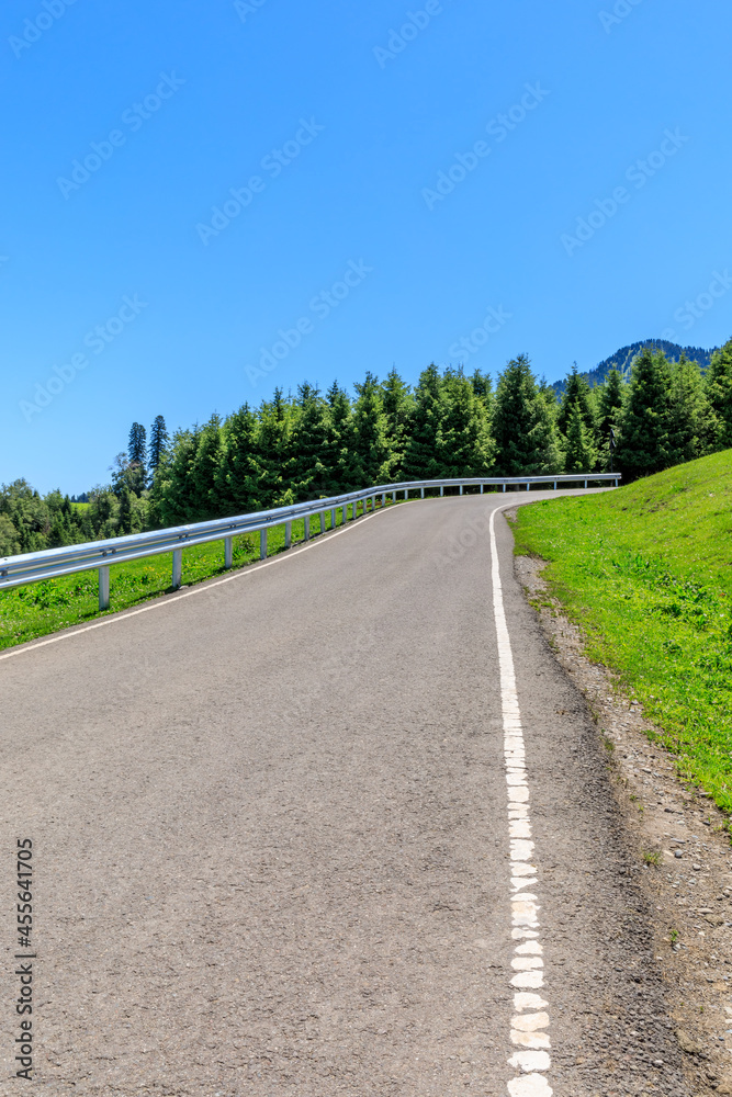
[[[379,500],[378,500],[379,505]],[[83,504],[81,505],[83,506]],[[387,500],[391,506],[391,500]],[[359,505],[359,514],[363,505]],[[336,514],[336,525],[342,524],[342,511]],[[330,527],[330,511],[326,513],[326,530]],[[318,519],[311,519],[311,534],[319,532]],[[292,541],[302,541],[305,523],[292,523]],[[284,551],[284,525],[269,530],[268,555]],[[234,539],[234,568],[245,567],[259,559],[259,534]],[[172,553],[149,556],[147,559],[120,564],[110,568],[110,604],[108,613],[129,609],[170,591]],[[195,545],[183,550],[183,585],[224,575],[224,542]],[[97,572],[79,572],[63,579],[47,579],[13,590],[0,591],[0,651],[24,644],[38,636],[47,636],[83,624],[92,618],[104,617],[99,612],[99,583]]]

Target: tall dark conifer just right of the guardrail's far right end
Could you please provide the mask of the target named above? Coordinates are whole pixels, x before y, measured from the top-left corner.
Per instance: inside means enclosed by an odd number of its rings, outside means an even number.
[[[633,364],[628,400],[620,419],[618,463],[635,479],[672,463],[668,438],[671,372],[663,351],[644,348]]]

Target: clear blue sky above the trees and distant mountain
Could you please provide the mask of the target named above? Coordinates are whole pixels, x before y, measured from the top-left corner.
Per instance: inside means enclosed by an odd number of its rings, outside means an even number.
[[[0,482],[82,491],[134,420],[304,378],[725,341],[731,32],[682,0],[8,0]]]

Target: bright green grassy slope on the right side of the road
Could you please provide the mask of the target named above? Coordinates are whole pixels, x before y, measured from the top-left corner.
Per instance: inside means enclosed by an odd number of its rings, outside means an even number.
[[[680,774],[732,811],[732,450],[521,507],[516,552],[619,672]]]

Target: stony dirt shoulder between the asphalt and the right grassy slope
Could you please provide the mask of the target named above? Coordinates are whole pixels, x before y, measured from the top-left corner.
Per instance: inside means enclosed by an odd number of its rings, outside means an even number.
[[[643,914],[673,1039],[695,1095],[732,1094],[732,856],[727,819],[676,774],[653,725],[617,676],[583,654],[579,630],[550,597],[543,562],[516,575],[545,642],[583,699],[617,805],[628,892]],[[579,749],[579,748],[578,748]],[[664,1093],[666,1090],[663,1090]]]

